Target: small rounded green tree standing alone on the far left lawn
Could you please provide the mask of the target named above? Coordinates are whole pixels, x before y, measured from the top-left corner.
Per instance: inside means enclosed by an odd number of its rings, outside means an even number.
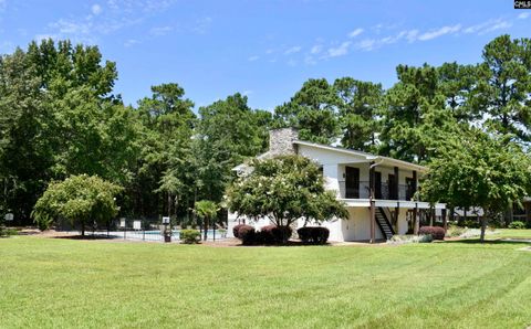
[[[64,181],[52,182],[38,200],[32,216],[40,227],[59,219],[72,224],[80,223],[82,234],[88,223],[106,223],[113,219],[118,206],[115,195],[122,188],[98,177],[71,176]]]

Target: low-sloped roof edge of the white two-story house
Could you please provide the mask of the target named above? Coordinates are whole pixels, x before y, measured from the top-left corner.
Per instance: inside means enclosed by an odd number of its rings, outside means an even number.
[[[427,168],[424,167],[424,166],[420,166],[420,164],[415,164],[415,163],[412,163],[412,162],[397,160],[397,159],[393,159],[393,158],[389,158],[389,157],[376,156],[376,155],[367,153],[367,152],[364,152],[364,151],[346,149],[346,148],[335,147],[335,146],[329,146],[329,145],[324,145],[324,144],[310,142],[310,141],[305,141],[305,140],[294,140],[293,144],[303,145],[303,146],[317,148],[317,149],[323,149],[323,150],[329,150],[329,151],[339,152],[339,153],[357,156],[357,157],[364,158],[367,162],[374,161],[376,163],[387,164],[387,166],[392,166],[392,167],[396,166],[398,168],[416,170],[418,172],[426,172],[427,171]],[[257,159],[267,159],[269,157],[270,157],[270,152],[268,151],[268,152],[264,152],[264,153],[261,153],[261,155],[257,156]],[[246,163],[241,163],[241,164],[238,164],[237,167],[235,167],[232,170],[238,171],[238,170],[244,169],[246,167],[247,167]]]

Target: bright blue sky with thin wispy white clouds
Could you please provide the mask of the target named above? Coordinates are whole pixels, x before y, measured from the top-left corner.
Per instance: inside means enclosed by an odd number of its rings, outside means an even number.
[[[311,77],[396,81],[397,64],[480,61],[499,34],[531,36],[531,10],[490,1],[0,0],[0,52],[32,39],[97,44],[125,103],[176,82],[196,107],[240,92],[273,109]]]

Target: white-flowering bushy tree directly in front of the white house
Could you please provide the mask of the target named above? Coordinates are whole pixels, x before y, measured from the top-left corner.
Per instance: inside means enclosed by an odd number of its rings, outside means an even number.
[[[252,172],[228,191],[228,208],[250,219],[269,217],[277,226],[298,219],[322,222],[345,219],[344,205],[324,190],[317,166],[301,156],[282,156],[249,163]]]

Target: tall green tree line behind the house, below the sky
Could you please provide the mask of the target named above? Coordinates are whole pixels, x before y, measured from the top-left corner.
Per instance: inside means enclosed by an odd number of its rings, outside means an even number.
[[[530,39],[498,36],[477,64],[398,65],[396,74],[387,89],[311,78],[272,112],[251,108],[239,93],[196,109],[176,83],[125,106],[114,92],[116,64],[97,46],[31,42],[0,57],[0,211],[31,223],[52,181],[88,174],[123,188],[121,215],[190,220],[196,201],[223,200],[231,168],[267,149],[270,128],[287,126],[304,140],[428,166],[480,145],[498,155],[492,161],[519,159],[517,169],[529,170]],[[462,164],[433,166],[439,170],[428,177],[436,181],[448,167],[462,173]],[[479,202],[455,185],[426,187],[434,202]],[[503,195],[512,202],[514,193]]]

